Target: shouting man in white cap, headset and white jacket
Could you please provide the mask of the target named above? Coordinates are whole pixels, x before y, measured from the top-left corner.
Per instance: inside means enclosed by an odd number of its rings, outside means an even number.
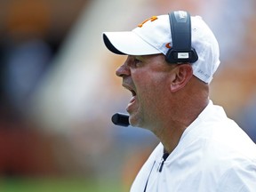
[[[128,55],[116,76],[132,92],[126,108],[130,124],[154,132],[161,141],[131,191],[256,191],[255,144],[209,99],[209,84],[220,64],[218,42],[198,16],[191,17],[191,27],[186,24],[191,40],[183,28],[175,34],[175,17],[190,22],[187,12],[172,12],[129,32],[103,34],[111,52]],[[174,50],[176,58],[170,59],[173,36],[188,37],[191,50]]]

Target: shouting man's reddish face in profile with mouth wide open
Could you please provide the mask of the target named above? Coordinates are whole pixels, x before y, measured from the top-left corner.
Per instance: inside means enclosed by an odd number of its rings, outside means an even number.
[[[126,110],[133,126],[156,128],[166,108],[172,68],[163,54],[156,54],[128,56],[116,69],[116,76],[122,77],[123,86],[132,92]]]

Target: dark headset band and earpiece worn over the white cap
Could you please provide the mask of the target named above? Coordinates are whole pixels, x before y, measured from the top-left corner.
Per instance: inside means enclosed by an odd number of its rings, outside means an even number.
[[[196,50],[191,47],[190,14],[184,11],[169,13],[172,47],[165,55],[169,63],[194,63],[198,60]]]

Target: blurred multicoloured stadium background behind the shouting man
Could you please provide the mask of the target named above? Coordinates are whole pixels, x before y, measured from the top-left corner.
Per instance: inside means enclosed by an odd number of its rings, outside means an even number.
[[[0,191],[129,191],[158,140],[111,123],[131,95],[101,36],[173,10],[212,28],[211,98],[256,142],[255,0],[0,0]]]

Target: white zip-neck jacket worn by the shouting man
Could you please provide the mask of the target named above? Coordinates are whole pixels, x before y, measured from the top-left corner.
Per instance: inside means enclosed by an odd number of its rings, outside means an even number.
[[[131,192],[256,192],[256,145],[212,101],[183,132],[159,172],[163,154],[159,143]]]

